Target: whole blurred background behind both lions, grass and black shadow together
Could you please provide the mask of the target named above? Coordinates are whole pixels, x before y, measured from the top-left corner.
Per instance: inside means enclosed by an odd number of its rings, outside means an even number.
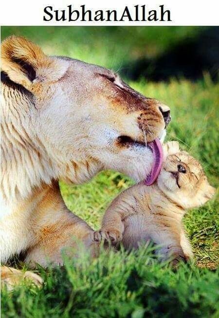
[[[171,108],[166,140],[197,157],[219,185],[219,27],[1,27],[1,39],[21,35],[49,55],[113,69],[129,85]],[[110,201],[133,183],[104,171],[88,184],[60,183],[67,206],[93,228]],[[217,197],[184,218],[197,264],[219,264]]]

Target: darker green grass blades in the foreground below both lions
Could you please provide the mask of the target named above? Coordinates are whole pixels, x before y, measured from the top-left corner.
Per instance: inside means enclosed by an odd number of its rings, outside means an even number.
[[[41,289],[2,291],[3,318],[219,317],[218,272],[184,264],[173,272],[145,248],[102,252],[94,261],[83,255],[40,272]]]

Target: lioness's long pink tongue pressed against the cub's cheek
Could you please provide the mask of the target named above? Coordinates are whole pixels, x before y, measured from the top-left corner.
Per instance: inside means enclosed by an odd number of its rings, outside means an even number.
[[[163,162],[163,148],[158,138],[156,138],[154,141],[150,143],[147,143],[147,146],[150,147],[154,156],[152,169],[145,180],[146,186],[150,186],[156,181],[161,171],[161,166]]]

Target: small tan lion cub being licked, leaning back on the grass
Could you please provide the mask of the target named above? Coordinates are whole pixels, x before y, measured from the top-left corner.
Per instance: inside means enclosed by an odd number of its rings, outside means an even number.
[[[178,142],[164,145],[164,163],[152,186],[137,184],[122,192],[106,211],[102,228],[94,238],[122,241],[125,248],[137,248],[151,240],[161,244],[162,260],[171,255],[173,263],[192,258],[190,243],[183,229],[186,209],[203,205],[214,195],[201,164]]]

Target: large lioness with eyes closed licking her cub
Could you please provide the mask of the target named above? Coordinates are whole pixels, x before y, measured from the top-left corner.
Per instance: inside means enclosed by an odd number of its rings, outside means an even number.
[[[170,110],[110,70],[15,36],[1,44],[1,101],[1,262],[25,252],[26,262],[61,264],[61,249],[91,228],[65,206],[58,180],[80,184],[104,169],[143,180],[147,142],[164,136]],[[23,275],[1,274],[11,284]]]

